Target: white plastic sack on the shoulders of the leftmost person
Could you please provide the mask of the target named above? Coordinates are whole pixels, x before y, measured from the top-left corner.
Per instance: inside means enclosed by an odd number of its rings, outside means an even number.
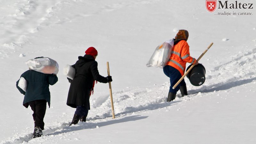
[[[59,65],[55,60],[48,57],[30,59],[25,62],[28,68],[44,74],[58,74]]]

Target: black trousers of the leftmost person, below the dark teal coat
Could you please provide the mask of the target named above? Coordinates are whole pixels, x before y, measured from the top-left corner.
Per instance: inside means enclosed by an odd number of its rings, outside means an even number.
[[[35,122],[35,127],[39,126],[44,130],[44,115],[46,111],[46,100],[34,100],[28,102],[29,106],[33,110],[33,119]]]

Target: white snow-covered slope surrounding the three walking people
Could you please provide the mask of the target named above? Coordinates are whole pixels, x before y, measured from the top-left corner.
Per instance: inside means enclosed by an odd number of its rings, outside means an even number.
[[[214,15],[203,0],[0,3],[1,144],[256,143],[254,0],[246,0],[254,3],[245,10],[251,16]],[[199,61],[206,68],[205,83],[196,87],[185,77],[188,96],[178,92],[175,100],[166,102],[169,78],[161,68],[145,65],[156,46],[179,29],[189,32],[192,57],[214,44]],[[87,122],[68,126],[75,109],[66,105],[69,83],[61,72],[90,46],[98,50],[102,76],[107,76],[109,61],[116,118],[108,84],[98,83]],[[23,95],[15,84],[28,70],[24,62],[40,56],[56,60],[60,73],[50,86],[43,137],[32,139],[32,110],[22,106]]]

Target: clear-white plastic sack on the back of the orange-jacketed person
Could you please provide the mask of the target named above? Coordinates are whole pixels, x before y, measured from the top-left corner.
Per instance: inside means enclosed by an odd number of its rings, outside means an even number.
[[[174,39],[171,39],[157,46],[146,66],[164,68],[164,66],[170,59],[173,45]]]

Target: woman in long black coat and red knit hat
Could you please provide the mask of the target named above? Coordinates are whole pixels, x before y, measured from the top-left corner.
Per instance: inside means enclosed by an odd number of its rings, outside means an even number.
[[[112,81],[111,76],[103,77],[99,74],[98,63],[95,61],[97,55],[97,50],[94,47],[89,47],[85,51],[85,55],[79,56],[76,63],[72,65],[76,69],[76,75],[73,80],[68,78],[71,84],[68,91],[67,105],[76,108],[76,111],[71,124],[77,124],[79,120],[86,121],[90,109],[89,99],[95,81],[100,83]]]

